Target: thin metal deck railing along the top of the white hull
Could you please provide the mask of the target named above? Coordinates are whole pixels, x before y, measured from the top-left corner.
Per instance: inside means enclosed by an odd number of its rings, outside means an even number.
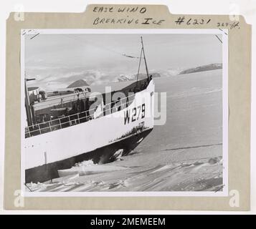
[[[59,117],[54,120],[49,120],[47,122],[40,122],[25,128],[25,137],[32,137],[36,135],[42,135],[47,132],[52,132],[54,130],[60,130],[66,127],[71,127],[73,125],[80,124],[82,122],[88,122],[94,120],[98,117],[103,117],[105,115],[110,115],[113,112],[118,112],[121,109],[128,107],[135,97],[135,94],[124,97],[117,101],[110,102],[103,106],[100,115],[96,114],[96,108],[88,109],[82,112],[77,112],[74,115],[68,115],[64,117]],[[96,116],[97,115],[97,116]]]

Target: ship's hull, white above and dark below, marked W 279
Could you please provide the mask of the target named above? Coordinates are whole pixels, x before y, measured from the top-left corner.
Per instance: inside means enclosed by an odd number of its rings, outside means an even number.
[[[131,152],[153,130],[153,80],[133,102],[111,115],[24,141],[25,182],[44,182],[58,177],[65,170],[84,160],[104,164],[114,160],[118,150]]]

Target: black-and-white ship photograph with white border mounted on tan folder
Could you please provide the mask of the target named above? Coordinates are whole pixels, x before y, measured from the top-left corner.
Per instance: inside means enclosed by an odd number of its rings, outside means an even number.
[[[22,29],[25,195],[224,195],[227,39]]]

